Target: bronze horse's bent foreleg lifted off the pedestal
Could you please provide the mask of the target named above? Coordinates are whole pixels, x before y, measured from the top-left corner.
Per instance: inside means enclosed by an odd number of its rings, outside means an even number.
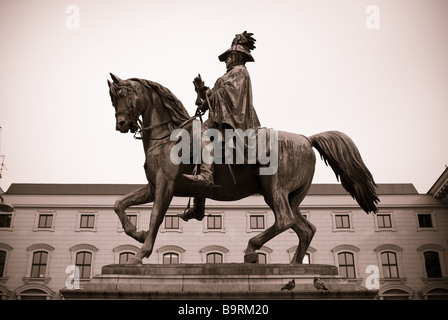
[[[126,215],[126,209],[134,205],[152,202],[153,200],[154,189],[150,184],[147,184],[115,201],[114,211],[120,219],[124,232],[141,243],[145,241],[146,232],[137,231],[136,226],[129,221]]]

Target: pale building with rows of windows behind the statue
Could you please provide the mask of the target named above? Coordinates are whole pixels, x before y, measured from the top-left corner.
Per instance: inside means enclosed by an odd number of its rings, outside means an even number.
[[[379,290],[377,299],[448,299],[447,181],[439,180],[428,194],[412,184],[379,185],[377,215],[362,211],[340,185],[313,184],[301,205],[317,227],[304,263],[335,265],[349,282]],[[138,187],[12,184],[2,198],[14,211],[0,212],[1,298],[61,299],[60,289],[125,263],[140,244],[123,232],[113,205]],[[208,200],[202,221],[177,217],[187,202],[174,198],[143,263],[242,263],[248,240],[274,222],[258,195]],[[144,230],[151,209],[127,214]],[[259,250],[260,263],[289,263],[298,241],[285,231]]]

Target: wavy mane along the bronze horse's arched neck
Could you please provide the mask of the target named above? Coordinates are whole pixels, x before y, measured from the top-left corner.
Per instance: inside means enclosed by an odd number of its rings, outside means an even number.
[[[143,86],[154,90],[160,97],[162,104],[168,110],[170,117],[175,126],[181,125],[183,122],[190,118],[187,110],[185,109],[182,102],[166,87],[161,84],[149,81],[145,79],[132,78],[132,81],[137,81]]]

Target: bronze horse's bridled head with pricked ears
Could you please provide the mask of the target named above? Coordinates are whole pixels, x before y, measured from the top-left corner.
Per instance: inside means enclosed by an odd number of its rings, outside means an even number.
[[[133,81],[121,80],[119,77],[110,74],[113,82],[107,80],[109,94],[112,105],[115,108],[115,129],[121,133],[139,129],[139,116],[143,111],[143,104],[140,100],[139,88]]]

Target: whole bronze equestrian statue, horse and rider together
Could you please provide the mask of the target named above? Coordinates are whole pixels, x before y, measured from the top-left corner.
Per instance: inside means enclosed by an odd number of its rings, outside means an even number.
[[[146,157],[144,169],[148,183],[117,200],[114,206],[126,234],[143,243],[128,263],[140,264],[151,255],[160,224],[174,196],[195,197],[195,205],[203,205],[205,198],[234,201],[253,194],[264,197],[275,222],[248,241],[244,262],[257,262],[258,249],[292,228],[299,243],[291,263],[302,263],[316,232],[316,227],[299,209],[314,175],[313,147],[365,212],[378,211],[379,199],[372,174],[347,135],[327,131],[305,137],[260,127],[244,66],[245,62],[253,61],[251,36],[246,32],[237,35],[231,48],[220,56],[221,61],[232,56],[237,62],[233,66],[226,63],[230,70],[212,89],[205,87],[200,77],[195,79],[197,104],[202,112],[194,116],[161,84],[137,78],[122,80],[111,74],[113,81],[108,80],[108,85],[115,108],[116,130],[141,138]],[[229,83],[234,85],[226,87]],[[233,113],[236,107],[244,112]],[[209,110],[209,119],[201,126],[196,118],[206,110]],[[238,161],[238,150],[243,152],[241,161]],[[153,208],[149,229],[138,231],[128,220],[126,209],[150,202]],[[190,211],[188,217],[181,217],[200,220],[201,212],[203,207]]]

